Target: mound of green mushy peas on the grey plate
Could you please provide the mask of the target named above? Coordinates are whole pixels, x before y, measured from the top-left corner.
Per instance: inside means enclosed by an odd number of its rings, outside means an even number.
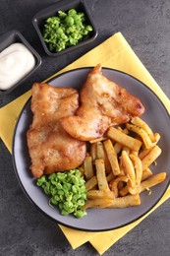
[[[36,184],[51,197],[49,203],[57,205],[62,215],[73,214],[76,218],[86,215],[82,209],[86,201],[85,179],[79,169],[43,175]]]

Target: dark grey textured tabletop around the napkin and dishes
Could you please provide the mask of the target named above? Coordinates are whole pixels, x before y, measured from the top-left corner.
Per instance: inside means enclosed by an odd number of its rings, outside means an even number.
[[[122,32],[147,70],[170,97],[170,1],[85,0],[98,30],[90,45],[58,58],[48,57],[32,27],[31,19],[53,0],[1,0],[0,33],[22,32],[42,57],[41,67],[24,87],[0,97],[3,106],[73,62],[114,32]],[[0,124],[1,125],[1,124]],[[89,243],[73,250],[57,224],[30,204],[14,173],[11,155],[0,141],[0,255],[97,255]],[[170,200],[132,229],[104,254],[106,256],[169,256]]]

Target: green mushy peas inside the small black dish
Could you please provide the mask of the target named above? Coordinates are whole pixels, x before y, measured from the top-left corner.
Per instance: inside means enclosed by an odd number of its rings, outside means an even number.
[[[86,39],[92,30],[86,22],[85,13],[75,9],[58,11],[56,16],[46,19],[43,39],[51,52],[57,52]]]

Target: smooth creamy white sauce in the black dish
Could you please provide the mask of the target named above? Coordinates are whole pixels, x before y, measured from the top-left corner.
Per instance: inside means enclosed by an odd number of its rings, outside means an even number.
[[[0,52],[0,90],[7,90],[24,78],[35,66],[35,59],[20,42]]]

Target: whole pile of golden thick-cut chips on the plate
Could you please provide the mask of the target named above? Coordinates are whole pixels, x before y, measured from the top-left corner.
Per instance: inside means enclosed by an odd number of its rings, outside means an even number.
[[[93,156],[94,175],[85,183],[85,209],[141,205],[142,191],[150,192],[151,187],[166,179],[165,171],[154,174],[149,169],[161,154],[161,149],[156,145],[159,139],[160,134],[153,133],[138,117],[127,123],[124,130],[120,126],[110,127],[104,140],[91,144],[89,157]],[[98,143],[99,149],[105,148],[111,172],[104,169],[105,155],[97,154]]]

